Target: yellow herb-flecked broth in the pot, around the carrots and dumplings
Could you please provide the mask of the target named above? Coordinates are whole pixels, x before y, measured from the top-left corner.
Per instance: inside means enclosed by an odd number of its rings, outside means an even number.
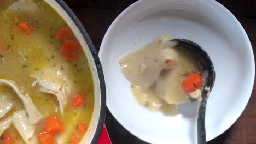
[[[20,3],[19,7],[15,5],[16,2]],[[43,119],[35,124],[36,130],[33,134],[37,141],[40,141],[39,133],[45,131],[45,119],[50,115],[58,117],[63,124],[63,130],[53,135],[58,143],[71,143],[73,135],[77,135],[79,140],[82,139],[85,133],[78,133],[77,127],[82,122],[86,125],[90,123],[94,109],[94,86],[83,51],[80,51],[75,60],[62,56],[63,43],[68,40],[77,41],[73,34],[68,39],[56,39],[59,29],[67,27],[66,22],[53,8],[40,0],[5,2],[0,7],[0,21],[0,79],[11,80],[21,93],[28,93],[42,113]],[[21,31],[17,28],[24,21],[32,27],[30,34],[26,33],[26,29]],[[59,103],[61,98],[57,98],[49,89],[46,89],[48,92],[45,89],[43,91],[43,85],[34,83],[35,80],[50,81],[68,87],[63,113]],[[85,103],[74,108],[71,103],[78,92],[85,96]],[[4,95],[8,95],[10,101],[15,101],[14,108],[8,115],[24,109],[13,89],[0,85],[0,97]],[[4,133],[13,136],[15,143],[25,143],[13,125]],[[0,143],[2,142],[1,139]]]

